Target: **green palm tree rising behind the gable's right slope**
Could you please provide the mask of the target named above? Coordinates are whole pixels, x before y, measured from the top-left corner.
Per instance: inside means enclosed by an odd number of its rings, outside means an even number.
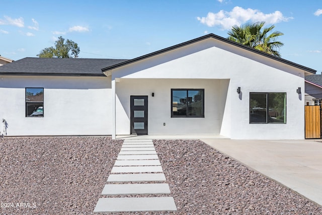
[[[232,26],[228,31],[228,40],[250,46],[257,50],[272,54],[277,57],[281,57],[279,48],[284,44],[277,41],[278,36],[284,35],[280,31],[274,31],[270,35],[270,31],[275,28],[274,25],[264,28],[265,22],[247,23],[243,26]],[[263,30],[262,30],[263,29]]]

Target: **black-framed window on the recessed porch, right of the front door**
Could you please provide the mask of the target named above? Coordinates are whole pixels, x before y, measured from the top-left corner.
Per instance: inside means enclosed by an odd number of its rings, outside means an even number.
[[[171,89],[171,117],[204,117],[204,89]]]

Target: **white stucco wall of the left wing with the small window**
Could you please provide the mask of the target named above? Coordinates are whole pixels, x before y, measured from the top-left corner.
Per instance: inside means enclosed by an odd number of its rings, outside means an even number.
[[[26,117],[29,87],[44,88],[44,117]],[[0,95],[0,119],[8,123],[7,135],[111,134],[108,77],[0,76]]]

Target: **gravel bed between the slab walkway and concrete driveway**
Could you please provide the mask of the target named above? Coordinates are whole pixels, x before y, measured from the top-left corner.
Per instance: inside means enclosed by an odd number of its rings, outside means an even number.
[[[155,140],[180,214],[322,214],[322,207],[200,140]]]

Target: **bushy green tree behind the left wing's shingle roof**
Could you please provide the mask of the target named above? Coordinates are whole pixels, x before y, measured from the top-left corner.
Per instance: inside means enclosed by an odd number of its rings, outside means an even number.
[[[51,58],[51,57],[58,57],[58,58],[77,58],[79,54],[79,47],[77,43],[61,36],[55,41],[55,47],[51,46],[48,48],[44,48],[37,54],[38,57],[44,58]]]

